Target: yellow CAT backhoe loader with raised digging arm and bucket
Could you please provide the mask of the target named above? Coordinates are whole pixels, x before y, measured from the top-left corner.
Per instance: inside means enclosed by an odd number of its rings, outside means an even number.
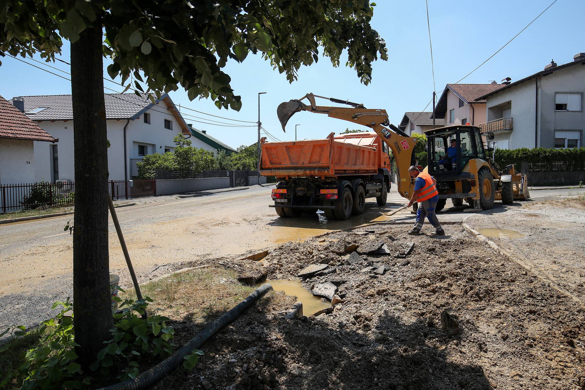
[[[315,98],[328,99],[350,107],[318,106]],[[302,102],[304,99],[307,99],[308,104]],[[398,192],[405,198],[410,198],[414,192],[414,180],[410,177],[408,168],[411,165],[418,165],[414,156],[417,139],[392,125],[388,121],[386,110],[367,109],[362,104],[307,94],[301,99],[284,102],[278,106],[277,116],[283,130],[291,116],[301,111],[326,114],[331,118],[347,120],[374,130],[393,153]],[[477,126],[454,125],[427,130],[425,134],[428,164],[424,171],[437,181],[439,191],[437,211],[443,209],[446,199],[452,199],[455,206],[467,201],[472,206],[468,210],[473,211],[491,209],[496,200],[512,203],[514,199],[529,198],[526,175],[516,173],[514,165],[498,167],[493,154],[490,156],[493,149],[484,145],[483,136],[491,140],[494,138],[493,133],[482,134]],[[269,144],[271,143],[263,143],[263,150],[264,145]],[[448,151],[450,145],[455,147],[455,151]],[[271,171],[270,174],[276,173]],[[326,179],[326,174],[322,176],[322,179]]]

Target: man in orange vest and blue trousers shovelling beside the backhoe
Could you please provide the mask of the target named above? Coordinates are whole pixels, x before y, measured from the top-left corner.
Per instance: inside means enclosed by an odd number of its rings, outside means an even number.
[[[412,203],[418,202],[416,223],[408,234],[412,234],[413,236],[421,234],[422,225],[425,223],[426,216],[431,225],[435,227],[435,234],[443,236],[445,230],[441,227],[441,223],[439,223],[435,214],[435,206],[439,201],[439,192],[436,188],[437,181],[428,173],[419,171],[414,165],[408,168],[408,173],[410,177],[415,178],[414,192],[412,192],[408,207],[412,206]]]

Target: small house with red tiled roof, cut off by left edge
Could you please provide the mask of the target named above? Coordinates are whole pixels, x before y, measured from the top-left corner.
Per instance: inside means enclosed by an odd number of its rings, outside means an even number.
[[[34,182],[34,143],[50,147],[57,141],[0,96],[0,184]]]

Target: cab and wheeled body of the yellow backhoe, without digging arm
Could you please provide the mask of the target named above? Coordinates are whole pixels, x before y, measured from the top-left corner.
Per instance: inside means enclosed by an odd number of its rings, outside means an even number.
[[[425,132],[428,165],[425,168],[436,178],[442,210],[446,199],[461,206],[467,201],[472,210],[488,210],[494,201],[512,203],[514,199],[528,199],[526,175],[516,174],[514,165],[501,170],[493,161],[493,149],[484,145],[481,129],[477,126],[455,125]],[[493,133],[488,133],[493,140]]]

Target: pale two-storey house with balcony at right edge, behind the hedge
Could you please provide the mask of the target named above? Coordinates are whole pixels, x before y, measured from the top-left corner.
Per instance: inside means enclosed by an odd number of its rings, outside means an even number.
[[[494,132],[498,149],[572,149],[583,146],[585,53],[554,61],[538,73],[480,96],[486,100],[483,131]]]

